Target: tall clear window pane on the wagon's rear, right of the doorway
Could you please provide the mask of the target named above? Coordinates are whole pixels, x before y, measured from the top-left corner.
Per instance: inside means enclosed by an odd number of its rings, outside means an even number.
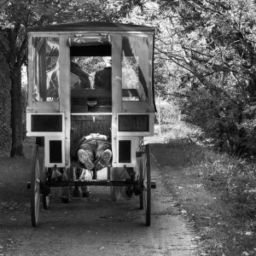
[[[148,38],[122,38],[122,100],[148,101]]]

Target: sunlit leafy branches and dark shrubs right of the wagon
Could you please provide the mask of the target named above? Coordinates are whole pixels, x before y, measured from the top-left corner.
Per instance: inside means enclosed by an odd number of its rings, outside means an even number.
[[[156,1],[157,56],[172,62],[164,90],[216,147],[255,149],[255,4],[251,0]],[[174,65],[174,64],[176,65]],[[161,62],[162,64],[162,62]]]

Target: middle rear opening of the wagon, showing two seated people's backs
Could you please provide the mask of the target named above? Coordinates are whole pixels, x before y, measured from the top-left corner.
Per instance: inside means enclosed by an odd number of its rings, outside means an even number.
[[[73,47],[70,55],[71,113],[112,111],[111,56],[87,55],[87,46],[79,52]],[[81,90],[82,89],[82,90]]]

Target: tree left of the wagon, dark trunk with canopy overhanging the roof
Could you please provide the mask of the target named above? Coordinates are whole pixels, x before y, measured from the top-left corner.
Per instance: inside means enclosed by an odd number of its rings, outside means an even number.
[[[21,67],[26,65],[26,28],[73,20],[116,20],[114,1],[100,0],[1,0],[0,51],[9,66],[11,80],[10,156],[23,155]],[[1,85],[1,84],[0,84]]]

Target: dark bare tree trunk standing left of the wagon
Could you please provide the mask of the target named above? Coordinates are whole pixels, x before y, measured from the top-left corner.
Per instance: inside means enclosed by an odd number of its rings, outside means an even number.
[[[12,147],[10,157],[24,156],[23,154],[23,125],[22,125],[22,96],[21,96],[21,68],[19,65],[11,71],[11,129]]]

